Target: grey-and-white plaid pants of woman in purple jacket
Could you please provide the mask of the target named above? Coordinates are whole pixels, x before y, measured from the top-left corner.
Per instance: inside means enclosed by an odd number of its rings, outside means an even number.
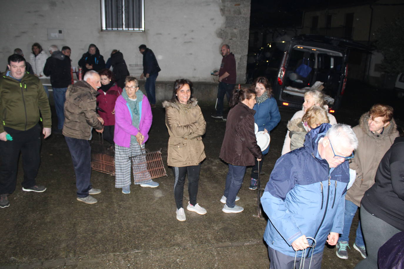
[[[129,148],[115,144],[115,188],[130,186],[131,161],[134,184],[146,184],[152,181],[147,171],[146,156],[142,155],[144,153],[138,143],[130,144]],[[136,157],[129,158],[132,156]]]

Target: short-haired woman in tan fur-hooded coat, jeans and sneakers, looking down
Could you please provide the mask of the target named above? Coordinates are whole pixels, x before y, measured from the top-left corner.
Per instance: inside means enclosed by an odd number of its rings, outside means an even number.
[[[356,179],[345,196],[343,234],[337,243],[337,256],[341,259],[348,259],[349,230],[360,201],[366,190],[375,183],[375,175],[381,159],[393,144],[394,139],[399,136],[393,119],[393,108],[383,104],[375,104],[369,112],[363,114],[359,125],[353,127],[353,131],[359,145],[349,168],[356,171]],[[360,219],[353,248],[366,258]]]

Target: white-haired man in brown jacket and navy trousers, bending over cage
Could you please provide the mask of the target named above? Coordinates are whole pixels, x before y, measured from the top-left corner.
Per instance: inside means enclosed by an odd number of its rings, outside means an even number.
[[[99,194],[101,190],[91,187],[91,148],[88,140],[92,127],[99,133],[104,131],[103,119],[95,112],[101,78],[96,71],[88,71],[83,79],[67,89],[63,135],[72,155],[77,200],[95,204],[97,199],[90,194]]]

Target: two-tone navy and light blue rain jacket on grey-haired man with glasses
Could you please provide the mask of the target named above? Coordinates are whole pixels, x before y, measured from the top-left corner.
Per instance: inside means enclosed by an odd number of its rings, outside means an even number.
[[[295,256],[291,244],[303,234],[316,239],[314,254],[318,254],[323,251],[331,231],[342,233],[348,161],[330,169],[325,159],[316,157],[318,140],[330,127],[323,123],[311,130],[303,147],[276,161],[261,197],[269,218],[264,240],[285,255]],[[297,255],[300,257],[301,251]]]

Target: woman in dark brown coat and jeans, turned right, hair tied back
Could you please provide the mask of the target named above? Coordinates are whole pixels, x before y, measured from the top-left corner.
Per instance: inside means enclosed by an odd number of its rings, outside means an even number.
[[[255,165],[255,158],[261,161],[262,152],[254,133],[255,90],[235,89],[227,115],[225,137],[220,150],[220,158],[229,164],[226,185],[221,202],[225,203],[224,213],[240,213],[244,209],[235,204],[237,193],[243,183],[247,166]],[[237,199],[238,200],[238,199]]]

